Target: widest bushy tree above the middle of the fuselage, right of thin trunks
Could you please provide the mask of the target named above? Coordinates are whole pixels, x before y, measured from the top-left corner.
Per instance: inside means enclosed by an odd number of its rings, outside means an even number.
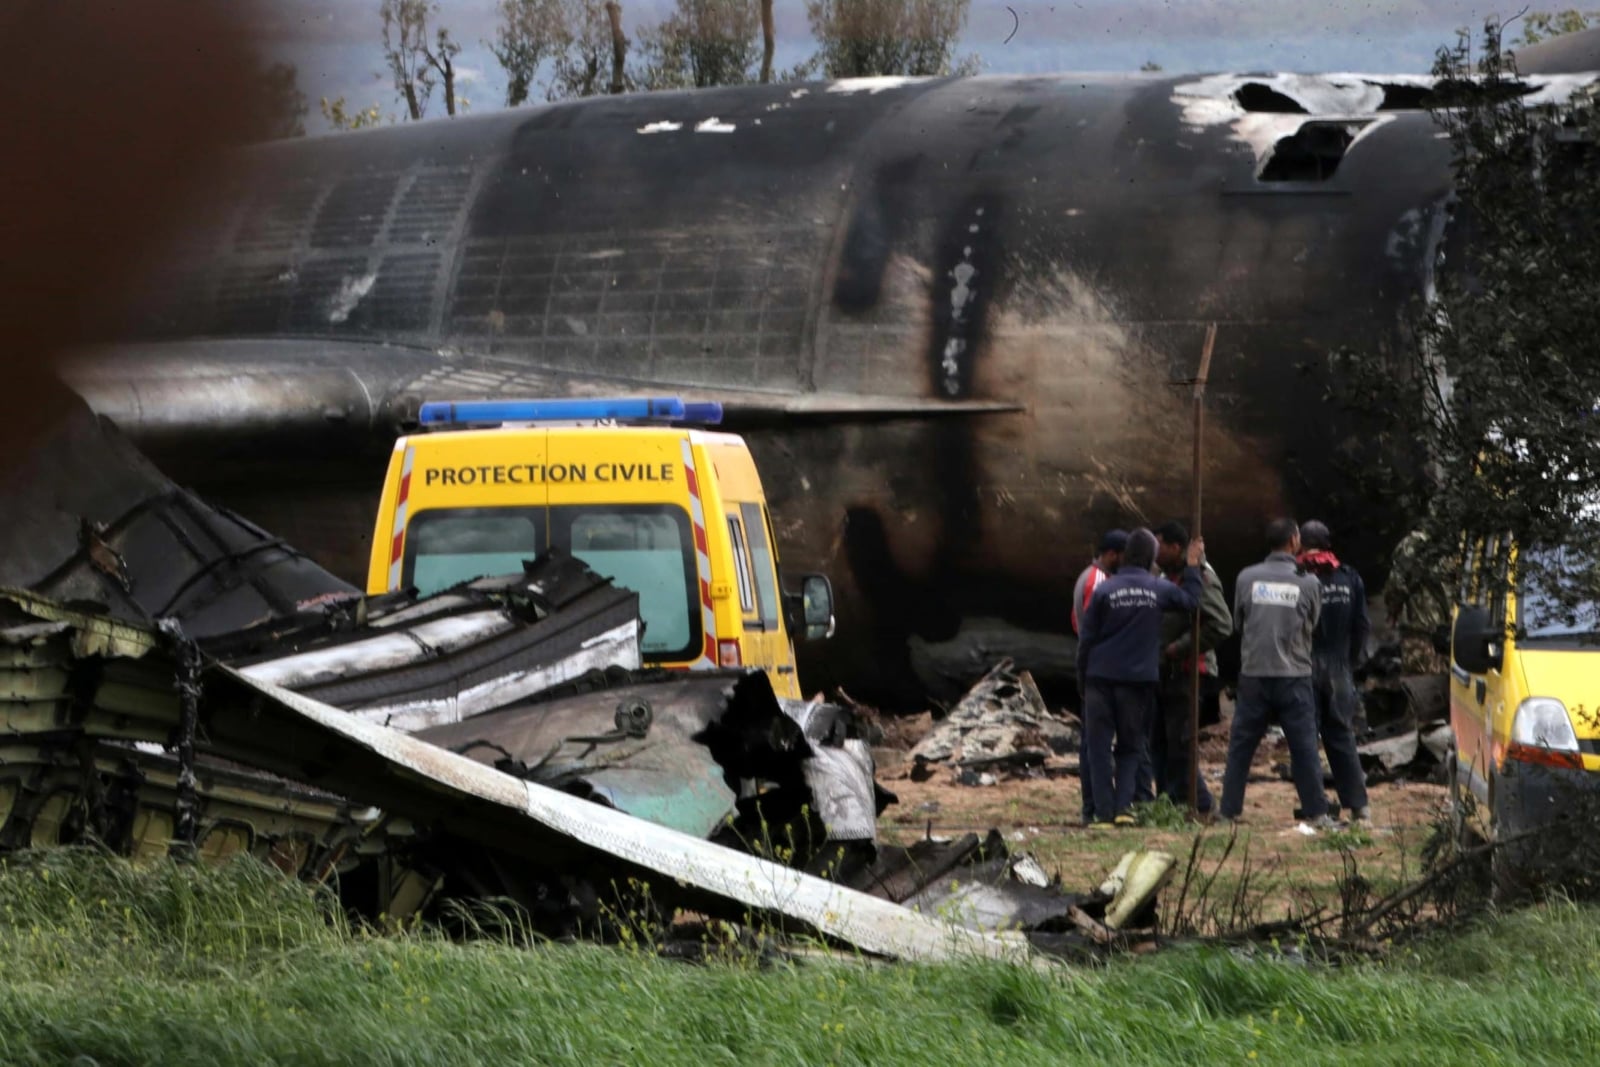
[[[955,40],[971,0],[806,0],[818,61],[830,78],[941,75],[976,70],[957,62]]]

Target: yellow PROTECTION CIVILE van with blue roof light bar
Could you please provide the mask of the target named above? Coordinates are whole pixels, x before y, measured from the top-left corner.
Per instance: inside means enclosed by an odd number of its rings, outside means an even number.
[[[832,635],[832,587],[782,592],[744,440],[672,426],[720,419],[672,397],[422,405],[429,432],[389,461],[366,590],[434,593],[560,547],[638,593],[646,664],[758,667],[800,697],[790,633]]]

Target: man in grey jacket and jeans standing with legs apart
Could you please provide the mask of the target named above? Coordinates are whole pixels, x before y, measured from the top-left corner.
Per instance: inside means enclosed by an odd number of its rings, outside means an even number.
[[[1224,819],[1245,809],[1245,781],[1261,737],[1274,715],[1290,742],[1290,773],[1301,813],[1317,829],[1328,829],[1328,797],[1322,792],[1317,752],[1317,702],[1312,696],[1312,633],[1322,614],[1322,582],[1301,571],[1299,525],[1278,518],[1267,526],[1270,553],[1238,573],[1234,587],[1234,625],[1238,629],[1238,697],[1227,737],[1222,773]]]

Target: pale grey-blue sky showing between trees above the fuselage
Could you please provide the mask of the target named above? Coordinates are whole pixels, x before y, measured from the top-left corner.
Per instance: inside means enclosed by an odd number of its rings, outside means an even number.
[[[632,30],[672,6],[672,0],[624,0],[624,22]],[[1514,14],[1520,6],[1483,0],[973,0],[962,51],[981,56],[986,74],[1136,70],[1146,61],[1170,72],[1422,72],[1434,51],[1454,40],[1456,27],[1477,27],[1488,14]],[[440,24],[462,45],[459,91],[472,110],[504,102],[506,78],[483,45],[494,35],[494,0],[440,3]],[[778,66],[786,67],[814,43],[803,0],[776,0],[776,10]],[[258,19],[262,48],[299,70],[310,130],[323,125],[317,117],[322,96],[400,110],[381,72],[378,0],[270,0]],[[435,109],[442,110],[437,101]]]

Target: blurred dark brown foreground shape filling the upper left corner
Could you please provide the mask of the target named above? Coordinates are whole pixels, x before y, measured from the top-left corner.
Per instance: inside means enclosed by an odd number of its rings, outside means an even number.
[[[0,5],[0,470],[67,410],[58,355],[117,312],[251,106],[251,3]]]

